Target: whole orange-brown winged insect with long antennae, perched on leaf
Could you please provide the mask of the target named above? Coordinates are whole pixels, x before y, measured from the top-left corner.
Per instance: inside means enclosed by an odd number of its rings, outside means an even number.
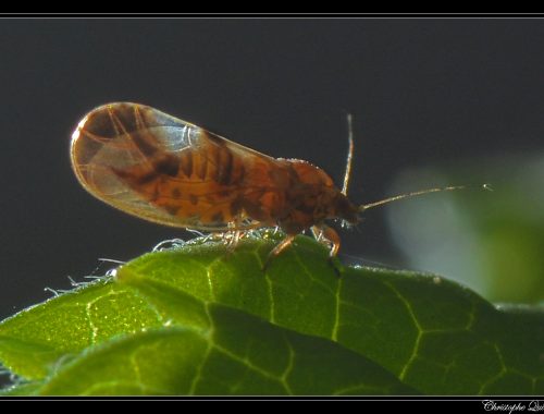
[[[244,231],[280,227],[286,238],[269,259],[308,229],[334,257],[341,240],[326,221],[355,224],[369,208],[462,187],[357,205],[347,197],[354,154],[349,131],[342,190],[307,161],[269,157],[139,104],[108,104],[87,113],[72,135],[70,154],[89,193],[133,216],[176,228],[233,232],[234,244]]]

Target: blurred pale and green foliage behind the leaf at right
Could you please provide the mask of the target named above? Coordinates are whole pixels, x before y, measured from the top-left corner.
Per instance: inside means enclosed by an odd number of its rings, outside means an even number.
[[[478,186],[490,183],[493,192]],[[467,284],[491,302],[544,301],[544,155],[405,171],[393,193],[473,184],[387,207],[408,267]]]

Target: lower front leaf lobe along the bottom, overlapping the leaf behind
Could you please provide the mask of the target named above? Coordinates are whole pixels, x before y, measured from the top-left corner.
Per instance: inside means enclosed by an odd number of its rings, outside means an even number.
[[[390,373],[330,341],[221,305],[214,329],[159,329],[89,349],[41,394],[411,393]]]

